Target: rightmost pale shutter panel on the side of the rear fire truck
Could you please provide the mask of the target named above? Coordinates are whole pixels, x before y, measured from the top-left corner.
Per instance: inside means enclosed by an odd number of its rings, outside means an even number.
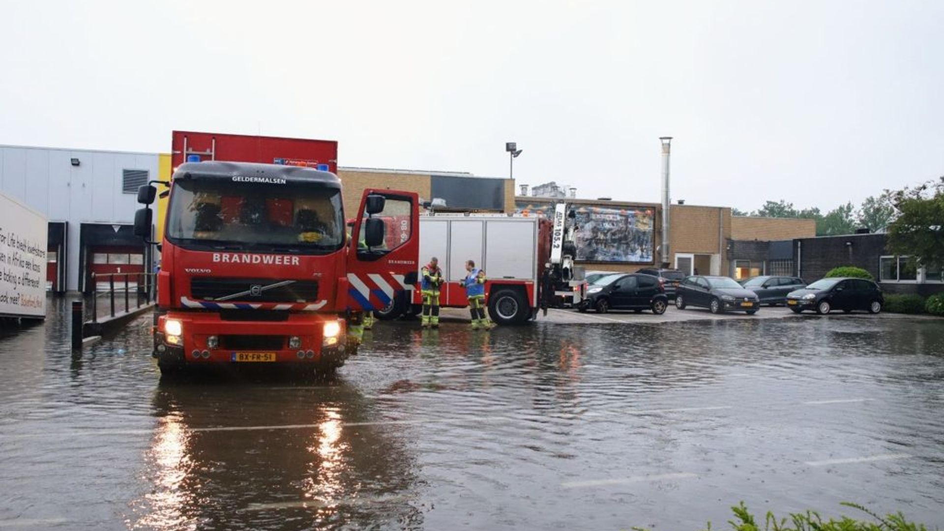
[[[489,219],[485,229],[485,260],[490,279],[533,279],[537,223]]]

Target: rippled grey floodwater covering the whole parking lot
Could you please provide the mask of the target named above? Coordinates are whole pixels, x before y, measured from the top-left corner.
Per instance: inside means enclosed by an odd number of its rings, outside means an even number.
[[[0,341],[0,529],[944,525],[939,319],[380,323],[313,384],[160,382],[148,324]]]

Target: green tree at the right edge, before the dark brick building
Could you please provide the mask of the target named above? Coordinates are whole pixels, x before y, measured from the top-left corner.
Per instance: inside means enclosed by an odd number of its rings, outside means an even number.
[[[944,265],[944,177],[892,193],[898,217],[888,226],[888,250]]]

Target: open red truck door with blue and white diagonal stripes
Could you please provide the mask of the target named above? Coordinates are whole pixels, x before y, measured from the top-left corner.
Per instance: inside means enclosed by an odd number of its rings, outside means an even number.
[[[347,247],[349,310],[406,303],[419,261],[419,197],[413,192],[364,190]]]

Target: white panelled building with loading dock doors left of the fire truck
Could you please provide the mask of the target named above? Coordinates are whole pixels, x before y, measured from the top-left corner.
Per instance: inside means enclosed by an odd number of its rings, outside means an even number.
[[[93,272],[149,272],[149,250],[132,231],[138,186],[158,179],[159,161],[158,153],[0,146],[0,190],[49,219],[50,289],[91,291]]]

